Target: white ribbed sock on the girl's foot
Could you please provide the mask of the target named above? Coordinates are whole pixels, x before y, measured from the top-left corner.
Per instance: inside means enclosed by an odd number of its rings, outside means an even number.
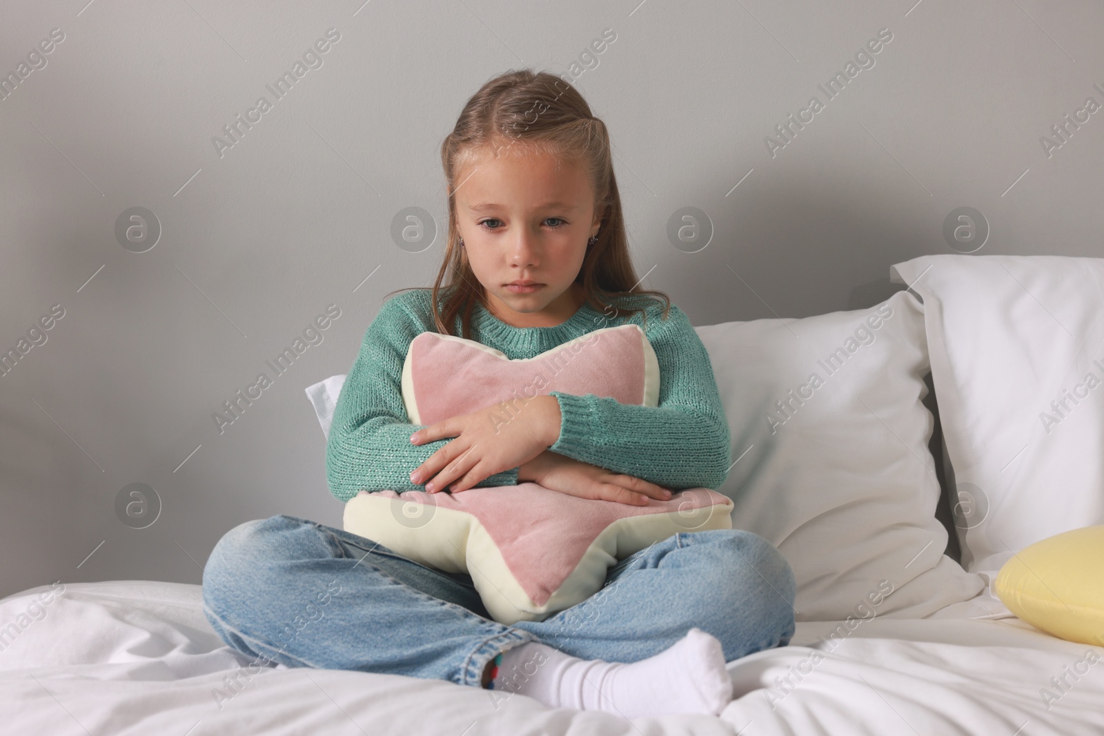
[[[528,695],[551,707],[605,711],[625,718],[670,713],[718,715],[732,701],[721,642],[693,628],[639,662],[581,660],[538,642],[502,653],[491,687],[500,698]]]

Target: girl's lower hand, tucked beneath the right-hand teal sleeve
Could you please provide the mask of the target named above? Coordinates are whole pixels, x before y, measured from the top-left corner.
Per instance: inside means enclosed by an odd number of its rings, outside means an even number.
[[[530,460],[526,469],[526,474],[534,483],[581,499],[616,501],[643,506],[648,504],[649,498],[658,501],[671,498],[671,492],[666,488],[640,478],[615,473],[548,450]],[[519,478],[519,482],[520,480]]]

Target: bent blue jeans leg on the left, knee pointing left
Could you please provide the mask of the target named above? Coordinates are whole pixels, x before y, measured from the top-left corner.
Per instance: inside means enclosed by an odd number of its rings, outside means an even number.
[[[535,640],[487,617],[467,576],[283,514],[219,541],[203,611],[223,641],[263,661],[475,686],[496,654]]]

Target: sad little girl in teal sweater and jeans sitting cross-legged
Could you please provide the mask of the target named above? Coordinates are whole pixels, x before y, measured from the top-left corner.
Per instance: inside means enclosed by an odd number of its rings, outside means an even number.
[[[330,429],[332,493],[533,481],[646,504],[719,488],[730,436],[709,355],[666,295],[636,288],[609,137],[582,96],[529,70],[491,79],[442,162],[445,260],[432,289],[389,299],[364,335]],[[626,323],[655,350],[658,406],[553,391],[497,428],[485,410],[408,422],[403,361],[422,332],[518,360]],[[675,534],[622,559],[587,600],[513,626],[490,618],[469,576],[296,516],[235,526],[203,573],[211,625],[263,662],[442,679],[629,718],[719,714],[732,700],[725,662],[786,646],[794,596],[785,558],[741,530]]]

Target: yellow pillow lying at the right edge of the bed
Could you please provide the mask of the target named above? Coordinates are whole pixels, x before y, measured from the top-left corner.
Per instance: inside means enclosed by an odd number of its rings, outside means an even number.
[[[1000,568],[994,588],[1031,626],[1068,641],[1104,644],[1104,526],[1025,547]]]

